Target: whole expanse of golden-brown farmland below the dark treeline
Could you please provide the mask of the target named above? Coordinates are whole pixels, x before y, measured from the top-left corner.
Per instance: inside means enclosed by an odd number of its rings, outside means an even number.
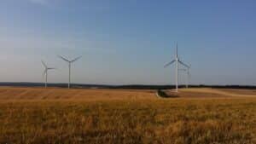
[[[0,143],[254,144],[254,94],[0,87]]]

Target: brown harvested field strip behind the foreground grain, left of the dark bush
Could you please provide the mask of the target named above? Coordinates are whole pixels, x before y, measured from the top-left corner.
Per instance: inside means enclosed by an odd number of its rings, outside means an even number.
[[[156,99],[154,90],[0,87],[0,100],[113,101]]]

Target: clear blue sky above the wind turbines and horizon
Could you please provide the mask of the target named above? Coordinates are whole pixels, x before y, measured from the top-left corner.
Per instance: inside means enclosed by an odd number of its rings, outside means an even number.
[[[254,0],[1,0],[0,82],[256,85]],[[180,84],[186,73],[180,72]]]

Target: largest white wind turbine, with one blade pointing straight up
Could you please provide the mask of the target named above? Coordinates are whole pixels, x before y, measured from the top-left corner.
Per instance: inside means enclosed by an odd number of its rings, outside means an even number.
[[[177,55],[177,44],[176,44],[176,55],[175,55],[175,58],[174,58],[174,60],[172,60],[171,62],[167,63],[166,66],[165,66],[165,68],[166,68],[167,66],[172,65],[173,63],[176,63],[176,92],[177,92],[177,91],[178,91],[178,67],[179,67],[179,64],[181,64],[181,65],[183,65],[183,66],[189,68],[188,65],[186,65],[185,63],[183,63],[182,60],[179,59],[179,57],[178,57],[178,55]]]

